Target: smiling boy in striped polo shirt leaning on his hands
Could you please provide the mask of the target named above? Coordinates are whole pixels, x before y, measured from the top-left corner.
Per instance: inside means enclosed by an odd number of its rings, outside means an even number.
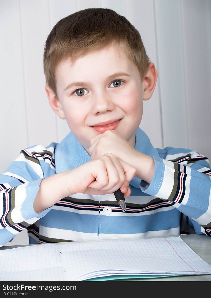
[[[139,128],[157,71],[127,19],[103,8],[63,18],[46,40],[44,73],[49,104],[71,132],[22,150],[0,175],[1,245],[24,228],[30,244],[211,236],[207,157],[155,149]]]

